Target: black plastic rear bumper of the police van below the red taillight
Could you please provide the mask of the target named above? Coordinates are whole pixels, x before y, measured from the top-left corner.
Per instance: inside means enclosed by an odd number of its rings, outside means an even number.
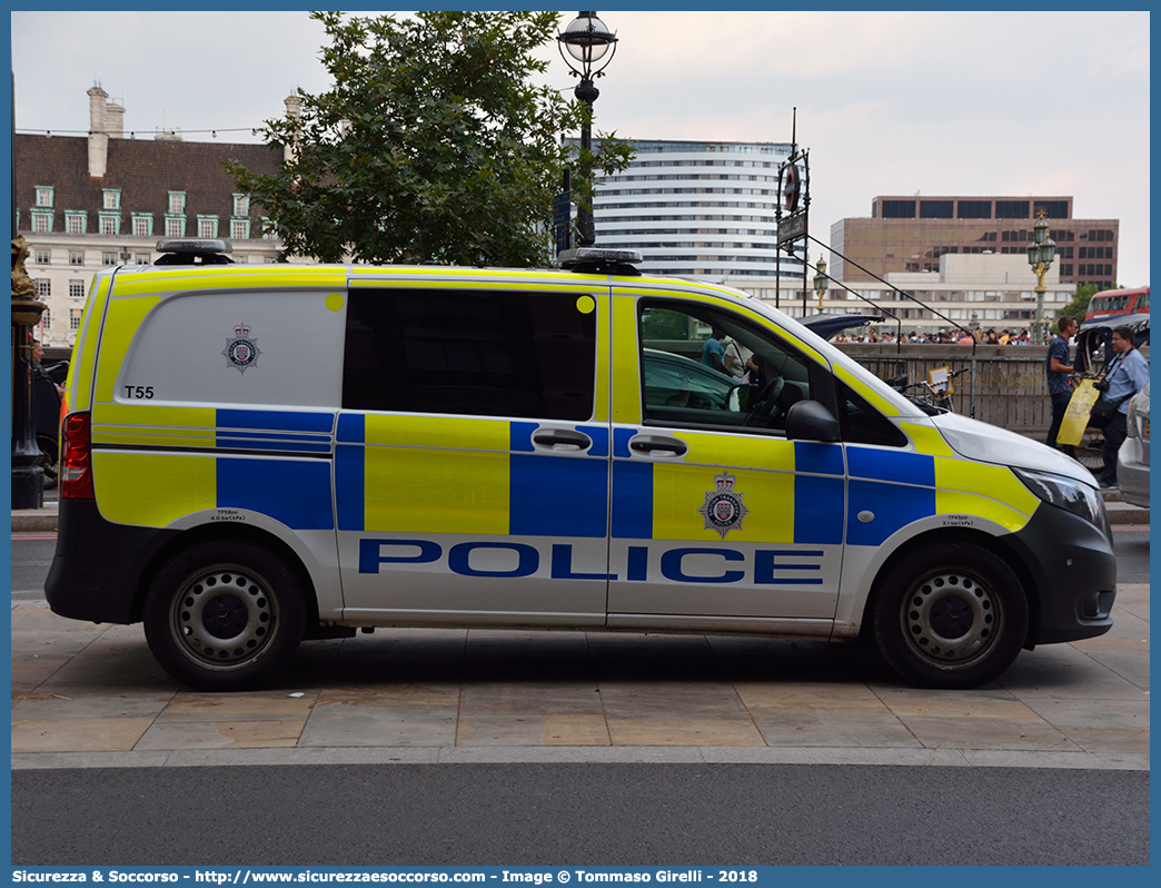
[[[52,611],[94,623],[138,622],[146,568],[176,532],[114,524],[93,500],[62,500],[58,527],[44,583]]]

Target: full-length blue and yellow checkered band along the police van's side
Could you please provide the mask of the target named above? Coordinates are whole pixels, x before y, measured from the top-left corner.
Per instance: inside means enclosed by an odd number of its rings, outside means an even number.
[[[639,428],[578,424],[585,453],[538,450],[539,428],[99,403],[94,482],[106,517],[147,527],[245,509],[296,530],[721,542],[698,509],[729,471],[749,509],[730,540],[817,545],[879,545],[936,515],[1015,531],[1039,503],[1009,470],[959,459],[922,429],[908,431],[929,452],[848,445],[845,458],[839,444],[677,431],[690,451],[669,463],[632,457]]]

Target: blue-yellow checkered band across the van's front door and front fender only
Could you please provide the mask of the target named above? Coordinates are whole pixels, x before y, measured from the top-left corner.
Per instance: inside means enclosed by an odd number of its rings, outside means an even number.
[[[1039,506],[1010,470],[959,459],[946,445],[938,456],[846,445],[844,465],[838,444],[677,432],[690,451],[684,461],[663,463],[630,457],[636,434],[613,430],[614,538],[720,543],[698,508],[723,471],[736,478],[734,489],[749,509],[728,532],[740,543],[875,546],[938,515],[1017,531]]]

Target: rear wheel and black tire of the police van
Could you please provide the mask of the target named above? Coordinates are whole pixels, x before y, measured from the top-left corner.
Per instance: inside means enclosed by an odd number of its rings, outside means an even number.
[[[302,583],[268,549],[210,540],[179,552],[145,597],[145,638],[165,671],[201,690],[262,685],[298,650]]]

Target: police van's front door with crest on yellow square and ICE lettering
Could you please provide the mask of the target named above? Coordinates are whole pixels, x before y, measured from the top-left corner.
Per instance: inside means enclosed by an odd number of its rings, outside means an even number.
[[[825,361],[737,309],[615,299],[614,366],[632,370],[628,348],[642,385],[614,400],[610,623],[787,618],[825,633],[843,558],[843,447],[784,431],[795,401],[829,398]]]

